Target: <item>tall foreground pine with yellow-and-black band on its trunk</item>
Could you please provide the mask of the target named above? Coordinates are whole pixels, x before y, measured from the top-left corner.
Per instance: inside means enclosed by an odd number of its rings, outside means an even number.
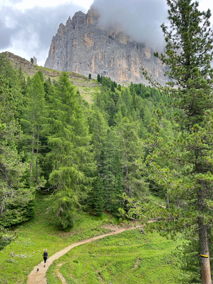
[[[193,239],[198,237],[198,258],[202,284],[211,284],[209,250],[212,235],[212,196],[213,196],[213,32],[210,28],[210,10],[200,12],[199,3],[190,0],[167,0],[170,28],[162,24],[166,54],[155,55],[170,69],[166,87],[160,86],[163,93],[174,98],[173,106],[179,109],[173,117],[179,125],[180,134],[172,143],[163,146],[155,131],[154,153],[162,159],[176,162],[178,172],[161,169],[156,156],[149,156],[147,164],[155,172],[156,180],[170,184],[168,196],[181,199],[182,209],[165,211],[171,220],[171,230],[190,230]],[[146,77],[152,81],[147,72]],[[160,116],[163,115],[159,110]],[[157,127],[156,127],[157,130]],[[162,149],[159,150],[161,145]],[[152,176],[153,176],[152,172]],[[164,180],[164,181],[163,181]],[[168,219],[167,219],[168,220]],[[188,234],[188,236],[190,235]],[[187,234],[186,234],[187,236]],[[193,249],[193,248],[192,248]]]

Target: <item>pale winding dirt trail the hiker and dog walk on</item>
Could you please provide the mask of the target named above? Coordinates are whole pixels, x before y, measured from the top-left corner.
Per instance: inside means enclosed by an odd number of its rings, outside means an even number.
[[[142,227],[142,226],[140,226],[140,227]],[[54,260],[58,259],[59,257],[61,257],[64,254],[66,254],[68,251],[70,251],[70,249],[74,248],[75,246],[83,245],[84,243],[91,243],[92,241],[102,239],[106,236],[117,235],[117,234],[122,233],[124,231],[134,230],[136,228],[138,228],[138,227],[134,227],[134,226],[113,227],[113,226],[111,226],[110,229],[113,230],[113,231],[110,232],[110,233],[107,233],[107,234],[104,234],[104,235],[99,235],[99,236],[96,236],[96,237],[93,237],[93,238],[90,238],[90,239],[87,239],[87,240],[80,241],[78,243],[72,243],[70,246],[67,246],[65,249],[62,249],[61,251],[58,251],[57,253],[55,253],[51,257],[49,257],[48,258],[48,266],[46,265],[46,267],[43,267],[43,264],[44,264],[43,261],[41,262],[41,266],[40,266],[40,263],[38,265],[36,265],[28,276],[27,284],[47,284],[46,271],[47,271],[49,265],[52,264],[52,262]],[[38,272],[37,272],[37,268],[39,268]]]

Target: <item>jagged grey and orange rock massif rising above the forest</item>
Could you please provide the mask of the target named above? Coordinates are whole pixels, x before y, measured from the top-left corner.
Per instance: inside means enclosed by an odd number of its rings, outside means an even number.
[[[94,7],[87,14],[76,12],[66,25],[59,25],[44,67],[85,76],[91,73],[92,78],[100,74],[117,82],[147,85],[141,70],[145,68],[154,79],[165,83],[165,66],[154,57],[154,51],[116,29],[101,27]]]

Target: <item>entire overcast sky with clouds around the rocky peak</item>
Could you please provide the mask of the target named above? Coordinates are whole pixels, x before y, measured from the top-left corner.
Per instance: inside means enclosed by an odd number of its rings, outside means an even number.
[[[0,52],[10,51],[28,60],[35,56],[38,65],[44,65],[59,24],[77,11],[86,13],[93,2],[103,25],[119,25],[152,47],[163,43],[159,26],[167,17],[166,0],[0,0]],[[199,2],[200,10],[213,12],[212,0]]]

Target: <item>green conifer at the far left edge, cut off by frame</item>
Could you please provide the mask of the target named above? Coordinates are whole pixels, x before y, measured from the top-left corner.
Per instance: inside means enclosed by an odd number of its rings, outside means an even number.
[[[16,109],[11,82],[0,75],[0,247],[12,240],[2,226],[28,220],[25,206],[33,200],[33,188],[27,188],[23,178],[27,164],[17,151],[22,132],[15,119]]]

